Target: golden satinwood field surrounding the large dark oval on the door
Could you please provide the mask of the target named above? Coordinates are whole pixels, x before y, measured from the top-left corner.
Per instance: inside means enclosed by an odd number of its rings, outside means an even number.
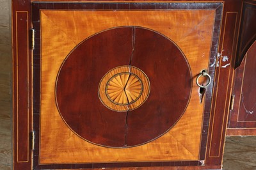
[[[143,12],[41,10],[41,19],[40,164],[198,160],[204,103],[199,102],[195,78],[200,70],[209,65],[214,10]],[[102,148],[84,141],[65,125],[54,105],[54,84],[63,59],[77,44],[95,33],[118,26],[148,27],[173,40],[184,52],[191,66],[193,89],[191,102],[184,116],[172,130],[143,146],[118,149],[113,152],[111,148]],[[90,29],[84,29],[89,27]],[[92,152],[93,156],[90,154]],[[70,154],[72,157],[68,156]]]

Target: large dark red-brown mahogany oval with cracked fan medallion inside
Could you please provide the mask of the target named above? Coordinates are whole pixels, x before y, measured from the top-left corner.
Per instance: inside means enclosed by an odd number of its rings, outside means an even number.
[[[168,132],[191,88],[188,61],[172,40],[144,27],[113,27],[68,54],[56,77],[56,105],[82,139],[125,148]]]

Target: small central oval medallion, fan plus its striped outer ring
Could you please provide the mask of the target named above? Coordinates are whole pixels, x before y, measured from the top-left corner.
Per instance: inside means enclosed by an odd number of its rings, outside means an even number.
[[[150,82],[147,75],[135,66],[118,66],[109,70],[99,84],[102,104],[113,111],[132,111],[148,98]]]

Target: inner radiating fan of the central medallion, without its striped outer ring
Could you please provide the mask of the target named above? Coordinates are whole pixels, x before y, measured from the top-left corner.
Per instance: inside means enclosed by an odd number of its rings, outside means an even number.
[[[136,75],[118,73],[109,80],[106,94],[111,102],[126,105],[135,102],[140,97],[142,89],[143,85]]]

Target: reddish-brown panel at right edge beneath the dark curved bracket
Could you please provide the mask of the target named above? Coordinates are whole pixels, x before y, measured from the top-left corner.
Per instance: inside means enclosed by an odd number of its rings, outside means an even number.
[[[256,134],[255,52],[256,42],[246,52],[241,65],[236,68],[234,108],[230,111],[227,135]]]

